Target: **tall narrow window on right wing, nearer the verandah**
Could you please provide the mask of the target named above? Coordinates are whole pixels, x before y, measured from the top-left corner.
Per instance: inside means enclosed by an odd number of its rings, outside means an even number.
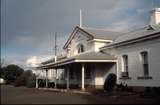
[[[123,71],[122,71],[122,77],[128,77],[128,55],[123,55]]]

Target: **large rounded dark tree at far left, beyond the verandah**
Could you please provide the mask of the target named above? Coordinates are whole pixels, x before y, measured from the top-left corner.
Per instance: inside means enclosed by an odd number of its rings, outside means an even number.
[[[14,82],[24,70],[17,65],[11,64],[5,67],[4,69],[4,78],[7,80],[7,83]]]

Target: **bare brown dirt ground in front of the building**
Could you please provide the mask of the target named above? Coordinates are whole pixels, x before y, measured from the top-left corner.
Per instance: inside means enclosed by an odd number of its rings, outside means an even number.
[[[85,95],[1,85],[1,104],[153,104],[160,97]]]

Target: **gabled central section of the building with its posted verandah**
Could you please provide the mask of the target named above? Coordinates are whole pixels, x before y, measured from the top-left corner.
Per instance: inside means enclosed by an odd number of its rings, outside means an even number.
[[[103,88],[109,73],[116,72],[116,58],[99,51],[112,43],[120,33],[76,26],[64,45],[67,55],[44,69],[64,69],[67,88],[70,86]],[[64,80],[65,81],[65,80]],[[64,83],[66,83],[64,82]]]

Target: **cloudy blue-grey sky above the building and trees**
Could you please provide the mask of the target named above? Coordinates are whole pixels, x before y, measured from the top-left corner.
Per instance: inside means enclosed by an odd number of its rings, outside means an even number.
[[[1,0],[1,58],[22,68],[58,55],[70,33],[82,27],[127,32],[149,24],[159,0]]]

